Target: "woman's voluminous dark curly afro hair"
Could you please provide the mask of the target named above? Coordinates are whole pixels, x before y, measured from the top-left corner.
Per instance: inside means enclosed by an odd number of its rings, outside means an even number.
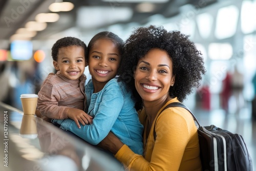
[[[132,90],[137,100],[136,109],[141,108],[142,99],[135,89],[134,70],[140,58],[153,48],[165,50],[173,61],[175,84],[169,89],[170,97],[183,101],[193,89],[200,86],[205,74],[202,54],[197,50],[189,36],[179,31],[167,32],[163,27],[140,27],[126,40],[121,66],[118,71],[119,81],[124,81],[127,89]]]

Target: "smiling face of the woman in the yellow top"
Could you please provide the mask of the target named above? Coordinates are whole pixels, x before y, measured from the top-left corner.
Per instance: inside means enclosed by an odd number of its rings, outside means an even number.
[[[166,51],[151,49],[138,61],[134,78],[136,90],[144,102],[166,99],[175,82],[173,62]]]

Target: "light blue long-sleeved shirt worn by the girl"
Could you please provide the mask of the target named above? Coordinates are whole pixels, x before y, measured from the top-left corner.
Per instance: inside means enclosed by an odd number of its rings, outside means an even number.
[[[111,79],[104,88],[93,93],[92,80],[85,87],[88,114],[93,116],[93,123],[81,125],[79,129],[71,119],[54,120],[61,129],[69,130],[87,142],[96,145],[111,131],[134,153],[143,154],[143,125],[134,108],[131,91],[127,92],[125,84]],[[87,111],[86,111],[87,112]]]

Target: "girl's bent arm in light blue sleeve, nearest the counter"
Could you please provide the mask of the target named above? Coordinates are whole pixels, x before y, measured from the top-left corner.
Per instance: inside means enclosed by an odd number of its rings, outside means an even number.
[[[54,120],[54,122],[61,124],[61,129],[69,130],[83,140],[93,145],[98,144],[111,131],[124,103],[123,94],[118,84],[113,84],[106,89],[103,96],[92,124],[82,125],[81,129],[78,129],[76,123],[70,119],[59,120],[59,122]]]

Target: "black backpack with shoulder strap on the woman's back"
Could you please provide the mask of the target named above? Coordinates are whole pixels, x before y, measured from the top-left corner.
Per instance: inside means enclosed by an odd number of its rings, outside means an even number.
[[[194,114],[180,102],[170,103],[163,110],[177,106],[188,110],[198,124],[200,158],[204,171],[252,171],[252,160],[241,135],[215,125],[201,126]]]

